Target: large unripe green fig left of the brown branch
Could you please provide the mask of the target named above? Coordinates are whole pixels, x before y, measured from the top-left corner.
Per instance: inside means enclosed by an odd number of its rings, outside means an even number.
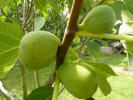
[[[27,33],[20,42],[20,61],[31,70],[44,68],[55,59],[59,45],[59,38],[47,31]]]

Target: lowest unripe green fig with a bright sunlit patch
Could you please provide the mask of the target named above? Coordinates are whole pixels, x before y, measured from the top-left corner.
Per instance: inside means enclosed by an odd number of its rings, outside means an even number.
[[[88,99],[97,90],[96,72],[84,62],[65,62],[57,75],[64,87],[77,98]]]

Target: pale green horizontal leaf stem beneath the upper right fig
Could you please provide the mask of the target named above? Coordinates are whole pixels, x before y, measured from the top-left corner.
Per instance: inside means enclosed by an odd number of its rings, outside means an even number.
[[[75,33],[75,36],[88,36],[88,37],[99,37],[99,38],[107,38],[107,39],[133,41],[133,36],[114,35],[114,34],[106,34],[106,33],[90,33],[86,31],[78,31]]]

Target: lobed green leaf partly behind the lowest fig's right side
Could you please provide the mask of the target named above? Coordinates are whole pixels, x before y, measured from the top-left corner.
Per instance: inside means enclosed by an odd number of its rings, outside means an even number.
[[[98,86],[102,93],[106,96],[111,93],[111,86],[107,81],[109,76],[116,76],[115,72],[107,64],[87,62],[97,73]]]

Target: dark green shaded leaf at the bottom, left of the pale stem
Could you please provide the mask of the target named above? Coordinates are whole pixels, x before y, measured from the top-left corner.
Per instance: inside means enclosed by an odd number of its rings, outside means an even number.
[[[40,86],[34,89],[26,100],[52,100],[53,88],[50,86]]]

